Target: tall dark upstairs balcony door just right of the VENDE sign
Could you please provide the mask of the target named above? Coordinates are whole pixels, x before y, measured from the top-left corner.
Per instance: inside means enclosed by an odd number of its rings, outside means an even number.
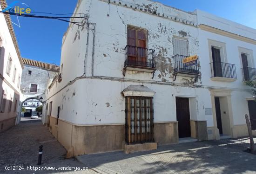
[[[222,77],[222,63],[220,49],[212,47],[212,63],[214,77]]]

